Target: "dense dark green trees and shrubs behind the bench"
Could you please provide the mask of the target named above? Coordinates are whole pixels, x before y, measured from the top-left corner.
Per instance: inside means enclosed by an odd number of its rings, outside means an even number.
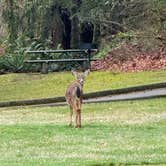
[[[11,68],[10,61],[14,71],[22,69],[25,48],[74,49],[93,43],[103,58],[124,43],[144,52],[166,44],[165,0],[0,0],[0,4],[0,52],[8,57],[1,68]],[[15,54],[19,58],[13,60]]]

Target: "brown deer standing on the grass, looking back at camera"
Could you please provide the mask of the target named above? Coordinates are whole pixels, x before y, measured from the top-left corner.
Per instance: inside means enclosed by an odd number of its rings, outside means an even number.
[[[90,70],[85,72],[76,72],[72,71],[72,74],[76,77],[76,81],[70,84],[66,90],[66,101],[70,107],[70,123],[69,126],[72,126],[72,116],[73,112],[76,115],[75,118],[75,127],[81,127],[81,105],[83,100],[83,85],[85,77],[89,74]]]

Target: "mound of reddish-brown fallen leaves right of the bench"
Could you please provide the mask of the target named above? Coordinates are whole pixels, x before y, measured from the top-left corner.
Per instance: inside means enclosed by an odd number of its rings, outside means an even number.
[[[100,60],[92,63],[92,70],[113,72],[137,72],[166,69],[166,48],[145,52],[142,47],[123,44],[109,52]]]

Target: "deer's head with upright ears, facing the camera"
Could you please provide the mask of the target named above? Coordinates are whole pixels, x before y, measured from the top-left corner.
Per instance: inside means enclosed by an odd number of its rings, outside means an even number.
[[[75,76],[76,80],[81,84],[81,86],[83,86],[85,78],[89,75],[90,70],[88,69],[85,72],[77,72],[72,70],[71,72]]]

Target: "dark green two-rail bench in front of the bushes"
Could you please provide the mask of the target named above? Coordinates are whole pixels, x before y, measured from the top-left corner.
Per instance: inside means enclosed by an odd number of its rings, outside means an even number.
[[[50,63],[58,62],[87,62],[88,67],[90,68],[90,62],[95,61],[96,59],[91,58],[91,53],[97,52],[97,49],[68,49],[68,50],[36,50],[36,51],[26,51],[28,54],[66,54],[66,53],[83,53],[84,58],[65,58],[65,59],[35,59],[35,60],[26,60],[25,63],[39,63],[42,65],[42,73],[48,73],[48,66]]]

